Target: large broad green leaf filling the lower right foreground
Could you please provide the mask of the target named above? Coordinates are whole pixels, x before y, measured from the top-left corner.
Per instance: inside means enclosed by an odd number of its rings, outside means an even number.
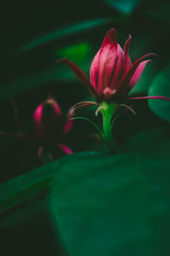
[[[59,168],[51,209],[69,255],[169,255],[169,146]]]

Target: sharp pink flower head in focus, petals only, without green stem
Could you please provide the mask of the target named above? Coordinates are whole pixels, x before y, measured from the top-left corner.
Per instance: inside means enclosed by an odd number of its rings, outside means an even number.
[[[67,59],[60,61],[71,68],[71,71],[88,88],[98,104],[101,102],[115,102],[116,104],[120,104],[126,100],[143,99],[143,97],[127,98],[127,95],[138,82],[145,65],[150,62],[150,59],[148,60],[147,58],[155,54],[143,55],[132,64],[128,54],[130,41],[131,36],[129,36],[124,49],[122,49],[117,44],[116,31],[111,29],[107,32],[101,48],[92,61],[90,79],[72,61]],[[168,99],[164,96],[150,96],[145,98]],[[82,108],[94,104],[98,105],[95,102],[80,102],[75,107]]]

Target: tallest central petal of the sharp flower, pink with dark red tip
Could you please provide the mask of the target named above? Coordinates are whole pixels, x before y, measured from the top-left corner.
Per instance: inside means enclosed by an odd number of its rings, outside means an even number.
[[[99,52],[98,92],[110,87],[111,73],[116,63],[117,39],[116,31],[111,29],[106,33]]]

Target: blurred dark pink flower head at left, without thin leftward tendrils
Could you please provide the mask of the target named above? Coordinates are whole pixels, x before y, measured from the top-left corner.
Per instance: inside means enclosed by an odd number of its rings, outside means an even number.
[[[66,119],[58,103],[52,96],[42,102],[33,114],[34,139],[41,144],[38,155],[42,154],[43,146],[55,145],[65,154],[71,154],[71,149],[62,144],[65,135],[71,130],[72,121]]]

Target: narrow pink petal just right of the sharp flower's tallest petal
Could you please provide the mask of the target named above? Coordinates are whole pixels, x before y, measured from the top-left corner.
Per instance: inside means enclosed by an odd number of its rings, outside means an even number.
[[[122,77],[123,73],[123,61],[124,61],[124,53],[119,44],[117,44],[117,57],[116,64],[113,69],[112,78],[111,78],[111,90],[116,89],[116,84],[118,80]]]

